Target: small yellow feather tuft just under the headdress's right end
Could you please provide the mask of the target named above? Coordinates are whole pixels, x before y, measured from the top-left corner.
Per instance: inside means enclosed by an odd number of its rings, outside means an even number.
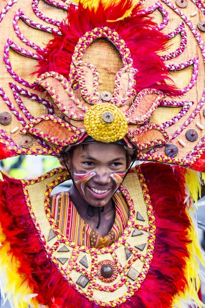
[[[185,179],[186,179],[186,184],[190,190],[190,195],[194,200],[195,204],[197,204],[198,197],[201,198],[201,183],[200,183],[199,172],[187,169]]]

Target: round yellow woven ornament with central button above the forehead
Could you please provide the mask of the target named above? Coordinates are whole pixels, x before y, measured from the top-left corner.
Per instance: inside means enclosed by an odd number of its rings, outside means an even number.
[[[101,142],[115,142],[126,136],[128,123],[119,108],[109,103],[93,105],[88,109],[84,125],[89,136]]]

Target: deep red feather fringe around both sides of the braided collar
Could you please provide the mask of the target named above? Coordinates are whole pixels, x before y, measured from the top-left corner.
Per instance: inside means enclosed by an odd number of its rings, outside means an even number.
[[[183,198],[184,169],[158,163],[141,165],[156,217],[156,244],[150,271],[134,296],[121,308],[168,308],[173,296],[186,286],[184,269],[189,256],[190,227]],[[11,253],[21,262],[20,273],[37,293],[39,303],[51,308],[97,308],[78,294],[47,258],[24,199],[22,183],[0,182],[0,221]]]

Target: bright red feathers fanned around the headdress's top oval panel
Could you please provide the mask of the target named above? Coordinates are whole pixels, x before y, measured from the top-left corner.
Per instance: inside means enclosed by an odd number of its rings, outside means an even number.
[[[54,39],[44,52],[40,52],[44,60],[39,61],[38,74],[56,71],[69,79],[71,57],[79,38],[95,27],[108,26],[118,32],[131,51],[134,67],[139,71],[136,74],[137,91],[155,88],[167,94],[178,95],[176,88],[167,84],[166,80],[170,81],[169,72],[157,55],[159,51],[166,49],[169,40],[155,29],[156,24],[152,18],[144,14],[136,15],[139,13],[138,5],[130,17],[118,22],[107,22],[117,20],[131,7],[131,0],[113,3],[107,9],[99,2],[96,11],[84,9],[82,4],[78,8],[70,5],[68,18],[60,26],[62,36],[53,33]]]

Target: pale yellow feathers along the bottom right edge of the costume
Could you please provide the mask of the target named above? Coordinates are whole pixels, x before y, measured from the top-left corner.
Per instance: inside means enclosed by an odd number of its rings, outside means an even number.
[[[187,213],[188,214],[188,213]],[[189,216],[189,214],[188,214]],[[190,217],[190,216],[189,216]],[[182,308],[183,302],[191,304],[191,300],[194,301],[199,308],[205,307],[198,298],[198,291],[200,288],[200,268],[199,263],[205,266],[204,259],[201,254],[200,243],[190,217],[191,227],[188,229],[189,239],[191,243],[188,244],[188,251],[190,253],[187,258],[185,276],[188,282],[186,290],[180,291],[173,299],[172,307]]]

